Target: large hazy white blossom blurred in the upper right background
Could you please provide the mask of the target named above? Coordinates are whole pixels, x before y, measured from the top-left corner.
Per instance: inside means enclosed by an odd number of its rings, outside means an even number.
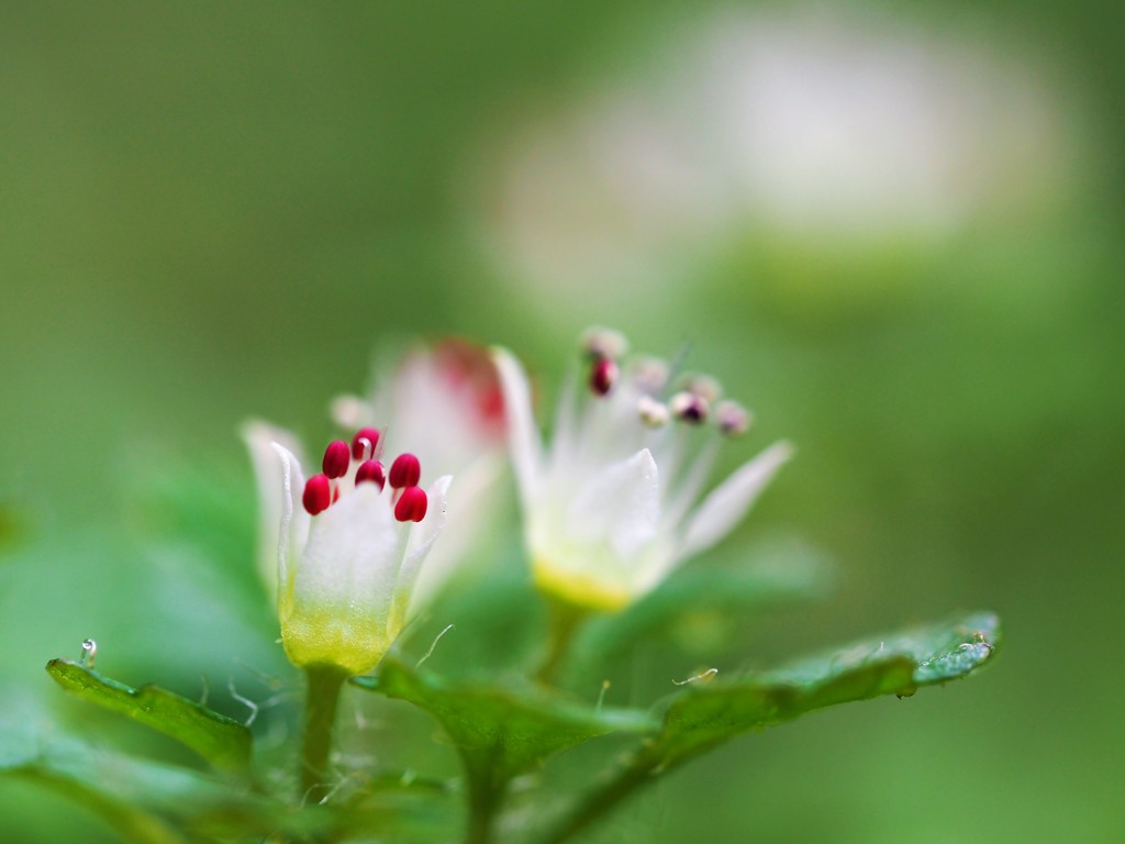
[[[636,302],[747,237],[939,246],[1066,188],[1073,151],[1041,71],[920,23],[726,11],[502,138],[485,239],[549,313]]]

